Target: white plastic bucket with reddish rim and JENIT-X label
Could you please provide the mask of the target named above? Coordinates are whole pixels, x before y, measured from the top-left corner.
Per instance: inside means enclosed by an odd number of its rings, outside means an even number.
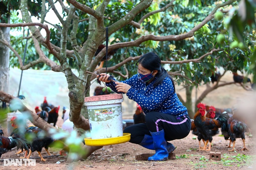
[[[122,94],[86,97],[91,139],[123,136]]]

